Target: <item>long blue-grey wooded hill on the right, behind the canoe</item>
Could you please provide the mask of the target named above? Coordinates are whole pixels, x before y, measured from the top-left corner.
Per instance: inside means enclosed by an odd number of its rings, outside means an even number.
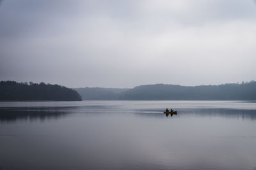
[[[122,92],[128,100],[256,100],[256,81],[223,85],[141,85]]]

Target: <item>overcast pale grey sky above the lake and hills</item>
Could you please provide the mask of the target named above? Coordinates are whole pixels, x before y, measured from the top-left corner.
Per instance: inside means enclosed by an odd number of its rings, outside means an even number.
[[[3,0],[0,80],[66,87],[256,80],[253,0]]]

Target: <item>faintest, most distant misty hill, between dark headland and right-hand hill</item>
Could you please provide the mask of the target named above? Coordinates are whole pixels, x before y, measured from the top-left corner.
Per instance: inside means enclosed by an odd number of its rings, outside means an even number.
[[[76,88],[74,90],[76,90],[84,100],[118,100],[120,93],[127,89],[85,87]]]

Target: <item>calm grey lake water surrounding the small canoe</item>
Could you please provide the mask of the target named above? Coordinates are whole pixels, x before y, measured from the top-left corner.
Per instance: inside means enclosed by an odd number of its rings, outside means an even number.
[[[255,170],[256,103],[2,102],[0,169]]]

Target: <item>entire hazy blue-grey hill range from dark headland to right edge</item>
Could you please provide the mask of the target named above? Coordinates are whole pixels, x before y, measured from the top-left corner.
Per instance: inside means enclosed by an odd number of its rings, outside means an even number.
[[[89,100],[256,100],[256,81],[223,85],[141,85],[117,91],[104,88],[76,89]]]

